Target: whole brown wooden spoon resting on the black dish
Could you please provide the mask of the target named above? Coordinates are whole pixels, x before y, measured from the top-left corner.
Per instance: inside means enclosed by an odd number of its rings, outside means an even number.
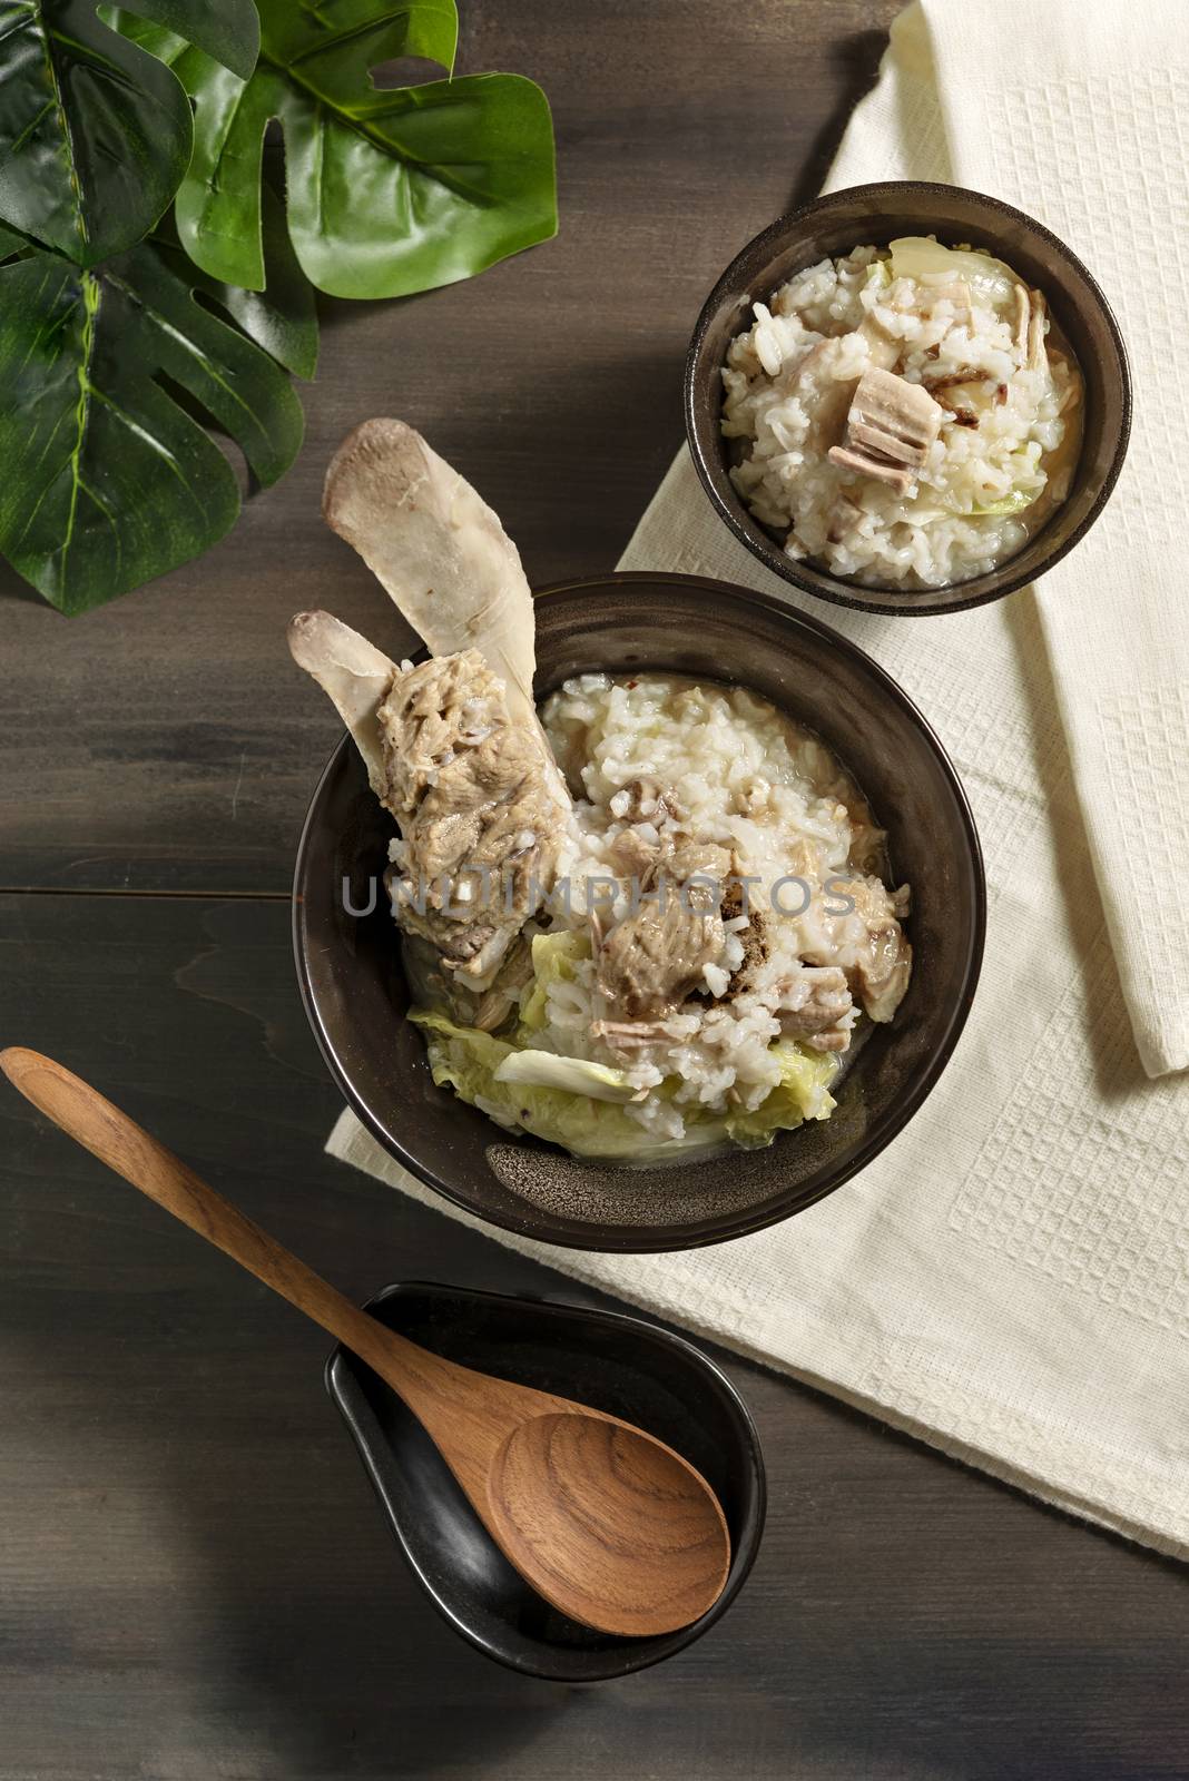
[[[443,1361],[386,1330],[61,1063],[0,1069],[62,1131],[304,1311],[408,1403],[488,1533],[546,1601],[603,1633],[671,1633],[719,1598],[730,1533],[707,1480],[618,1416]]]

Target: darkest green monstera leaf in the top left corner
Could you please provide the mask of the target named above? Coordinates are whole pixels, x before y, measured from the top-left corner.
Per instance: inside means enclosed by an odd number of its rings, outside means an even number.
[[[247,77],[253,0],[132,0]],[[199,52],[196,52],[199,53]],[[119,36],[96,0],[0,0],[0,219],[98,265],[150,230],[187,169],[190,105],[176,75]]]

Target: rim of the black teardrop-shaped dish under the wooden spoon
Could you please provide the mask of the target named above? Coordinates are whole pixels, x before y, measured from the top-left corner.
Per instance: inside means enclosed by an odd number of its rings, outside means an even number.
[[[707,1612],[698,1621],[691,1621],[689,1626],[678,1628],[676,1633],[651,1633],[644,1637],[627,1639],[619,1646],[614,1646],[611,1651],[605,1653],[605,1663],[602,1667],[594,1662],[596,1655],[593,1655],[589,1674],[584,1674],[580,1678],[559,1676],[555,1669],[545,1669],[539,1663],[534,1663],[532,1660],[513,1656],[511,1653],[502,1651],[493,1640],[484,1639],[482,1633],[475,1631],[472,1626],[468,1626],[465,1621],[459,1619],[454,1608],[441,1598],[433,1580],[425,1574],[415,1553],[409,1549],[404,1528],[400,1526],[392,1510],[390,1492],[379,1475],[379,1468],[374,1462],[372,1443],[361,1430],[354,1409],[345,1400],[344,1377],[342,1377],[344,1370],[363,1366],[365,1362],[356,1361],[356,1357],[349,1354],[344,1343],[335,1343],[322,1368],[322,1382],[326,1386],[326,1393],[344,1419],[347,1434],[351,1435],[356,1453],[360,1455],[363,1471],[367,1473],[368,1484],[376,1492],[376,1500],[384,1514],[388,1528],[400,1549],[406,1565],[409,1567],[422,1592],[429,1598],[429,1601],[438,1610],[438,1614],[447,1621],[447,1624],[461,1639],[465,1639],[470,1646],[473,1646],[475,1651],[481,1651],[495,1663],[502,1663],[504,1669],[516,1671],[516,1674],[520,1676],[538,1676],[545,1681],[571,1681],[575,1687],[587,1681],[612,1681],[618,1676],[632,1676],[635,1671],[651,1669],[653,1663],[664,1663],[666,1658],[676,1656],[680,1651],[685,1651],[691,1644],[694,1644],[694,1640],[701,1639],[703,1633],[708,1633],[710,1628],[716,1624],[716,1621],[721,1621],[721,1617],[726,1614],[726,1610],[732,1606],[740,1589],[748,1582],[751,1567],[755,1565],[756,1560],[756,1553],[760,1551],[760,1544],[764,1541],[764,1526],[767,1521],[767,1468],[764,1464],[764,1446],[760,1444],[760,1432],[755,1425],[755,1418],[751,1414],[751,1409],[748,1407],[746,1398],[733,1384],[733,1380],[728,1377],[728,1373],[717,1364],[717,1361],[714,1361],[708,1354],[705,1354],[705,1350],[698,1346],[698,1343],[691,1341],[687,1336],[669,1329],[664,1323],[653,1323],[651,1320],[637,1316],[630,1311],[611,1311],[603,1305],[571,1304],[568,1298],[557,1295],[550,1297],[550,1295],[532,1295],[532,1293],[498,1293],[491,1291],[489,1288],[452,1286],[443,1281],[415,1279],[415,1281],[393,1281],[390,1286],[381,1286],[379,1291],[372,1293],[372,1297],[363,1304],[363,1309],[372,1311],[374,1305],[386,1304],[390,1298],[400,1298],[406,1293],[417,1293],[417,1291],[450,1293],[459,1298],[498,1300],[502,1304],[529,1304],[532,1305],[534,1313],[539,1313],[543,1318],[564,1314],[564,1316],[575,1316],[586,1323],[600,1323],[603,1327],[614,1325],[616,1329],[623,1329],[625,1334],[628,1332],[644,1334],[646,1338],[657,1341],[659,1346],[662,1348],[678,1350],[687,1359],[691,1359],[694,1366],[701,1368],[701,1371],[710,1375],[710,1382],[719,1391],[719,1396],[726,1400],[732,1419],[739,1428],[740,1453],[748,1462],[751,1476],[751,1501],[746,1505],[740,1537],[739,1542],[732,1548],[730,1571],[726,1574],[726,1583],[723,1585],[723,1594],[717,1598],[717,1601],[710,1608],[707,1608]],[[666,1649],[660,1651],[655,1649],[655,1646],[659,1644],[664,1644]],[[634,1656],[632,1662],[625,1662],[625,1656],[630,1656],[634,1651],[639,1651],[639,1658]]]

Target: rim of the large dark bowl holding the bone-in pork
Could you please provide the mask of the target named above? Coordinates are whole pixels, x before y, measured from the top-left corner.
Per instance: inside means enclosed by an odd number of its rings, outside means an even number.
[[[692,1229],[691,1234],[678,1243],[673,1243],[667,1236],[662,1236],[660,1232],[655,1232],[650,1238],[646,1225],[609,1225],[609,1227],[591,1225],[589,1238],[584,1232],[571,1232],[566,1236],[559,1234],[541,1236],[536,1220],[529,1213],[523,1215],[518,1215],[514,1211],[495,1213],[486,1208],[477,1208],[473,1200],[466,1199],[449,1181],[445,1181],[443,1177],[434,1174],[434,1170],[425,1167],[417,1158],[417,1154],[411,1149],[408,1149],[397,1136],[393,1136],[379,1120],[379,1117],[372,1111],[368,1102],[356,1090],[349,1072],[344,1069],[338,1058],[335,1042],[329,1031],[326,1029],[326,1022],[322,1021],[322,1013],[317,1006],[310,985],[310,960],[304,944],[304,926],[303,926],[304,903],[301,896],[301,882],[304,876],[306,851],[311,844],[315,812],[322,800],[322,791],[331,775],[336,771],[344,750],[351,750],[354,746],[351,736],[347,734],[340,736],[340,739],[335,743],[329,760],[326,762],[322,773],[319,775],[319,782],[313,789],[310,807],[306,809],[306,816],[301,825],[301,837],[297,841],[297,858],[294,866],[294,887],[290,898],[294,964],[297,969],[297,985],[301,990],[301,1001],[306,1012],[306,1019],[310,1021],[310,1028],[317,1040],[319,1051],[322,1053],[322,1060],[331,1072],[331,1078],[335,1079],[340,1092],[347,1099],[347,1104],[351,1106],[354,1115],[361,1120],[361,1124],[379,1143],[379,1147],[397,1163],[400,1163],[400,1167],[408,1168],[409,1174],[413,1174],[420,1183],[424,1183],[427,1188],[433,1188],[434,1193],[440,1193],[445,1200],[449,1200],[459,1211],[466,1213],[470,1218],[475,1218],[479,1224],[493,1225],[500,1231],[511,1231],[514,1236],[529,1238],[536,1243],[552,1245],[555,1248],[589,1250],[603,1256],[678,1254],[691,1248],[710,1248],[716,1243],[728,1243],[739,1236],[751,1236],[755,1231],[764,1231],[769,1225],[783,1224],[785,1218],[806,1211],[810,1206],[815,1206],[829,1193],[835,1193],[840,1186],[844,1186],[856,1174],[860,1174],[860,1170],[867,1168],[867,1165],[872,1163],[876,1156],[879,1156],[892,1143],[892,1140],[901,1134],[901,1131],[904,1131],[908,1122],[913,1118],[913,1115],[920,1110],[924,1101],[936,1086],[942,1072],[945,1070],[945,1065],[954,1054],[954,1047],[961,1038],[967,1017],[970,1015],[975,990],[979,987],[979,976],[983,969],[983,951],[986,942],[988,898],[986,898],[986,869],[983,860],[983,844],[979,841],[979,832],[974,821],[974,812],[970,809],[970,800],[967,798],[961,778],[958,777],[958,769],[949,759],[949,753],[945,752],[945,746],[942,744],[942,739],[938,737],[936,730],[933,728],[929,720],[922,714],[922,711],[917,707],[917,703],[908,696],[908,693],[899,686],[899,682],[892,679],[886,668],[881,668],[879,663],[874,661],[874,657],[870,657],[856,643],[851,643],[849,638],[844,638],[840,632],[833,630],[831,625],[826,625],[821,618],[815,618],[813,614],[801,611],[801,607],[792,606],[780,595],[762,593],[755,588],[746,588],[737,582],[712,581],[707,575],[687,575],[682,572],[669,573],[662,570],[612,570],[611,573],[605,575],[580,575],[571,581],[548,582],[545,588],[534,591],[534,606],[538,602],[546,604],[550,600],[564,600],[566,597],[571,597],[575,593],[586,597],[596,588],[605,590],[609,586],[641,586],[641,584],[673,586],[675,582],[680,584],[682,588],[696,588],[700,593],[714,595],[716,598],[728,595],[732,600],[739,604],[758,606],[769,614],[780,618],[781,623],[805,627],[806,630],[815,632],[821,639],[829,643],[829,647],[835,648],[838,654],[851,657],[860,668],[860,671],[881,682],[886,696],[890,696],[892,702],[897,703],[910,718],[910,721],[915,723],[917,728],[920,730],[926,746],[933,753],[942,771],[942,777],[949,784],[949,791],[954,800],[958,817],[967,839],[967,851],[974,878],[974,907],[972,907],[970,940],[967,946],[961,996],[956,999],[954,1006],[949,1012],[949,1022],[945,1026],[940,1045],[929,1058],[927,1067],[920,1072],[913,1088],[902,1095],[902,1099],[895,1104],[894,1110],[888,1111],[881,1127],[876,1133],[863,1138],[854,1156],[838,1170],[838,1174],[828,1184],[819,1186],[808,1197],[799,1199],[796,1206],[789,1206],[781,1199],[776,1199],[765,1202],[760,1208],[744,1208],[742,1211],[726,1215],[719,1222],[714,1222],[710,1229]]]

